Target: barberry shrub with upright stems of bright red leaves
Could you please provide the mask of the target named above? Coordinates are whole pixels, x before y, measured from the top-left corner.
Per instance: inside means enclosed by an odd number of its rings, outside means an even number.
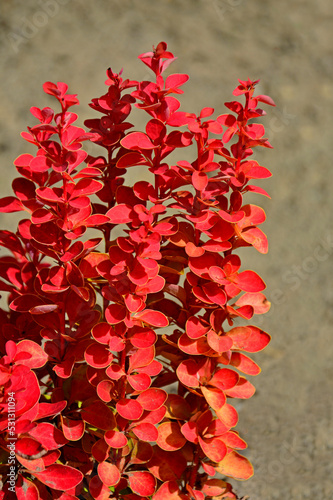
[[[267,252],[264,210],[243,198],[268,196],[251,155],[271,147],[257,106],[274,102],[247,80],[216,119],[179,111],[189,77],[162,76],[166,43],[139,58],[154,81],[108,69],[88,131],[67,85],[44,84],[61,110],[31,108],[37,153],[0,200],[25,214],[0,232],[1,499],[236,499],[226,478],[253,473],[231,401],[255,391],[244,352],[270,337],[244,324],[269,302],[237,250]]]

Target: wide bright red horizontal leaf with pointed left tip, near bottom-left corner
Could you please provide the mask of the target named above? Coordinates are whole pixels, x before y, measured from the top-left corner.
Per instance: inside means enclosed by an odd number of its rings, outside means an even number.
[[[33,472],[33,475],[43,484],[55,490],[67,491],[75,488],[83,479],[83,474],[68,465],[50,465],[43,472]]]

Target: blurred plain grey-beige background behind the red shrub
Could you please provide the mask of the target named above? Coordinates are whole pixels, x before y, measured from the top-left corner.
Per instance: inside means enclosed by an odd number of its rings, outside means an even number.
[[[13,160],[31,152],[20,138],[31,106],[56,106],[45,81],[77,93],[79,126],[104,93],[105,70],[150,78],[137,56],[161,40],[188,73],[181,110],[225,113],[237,79],[261,79],[266,136],[255,159],[273,172],[261,182],[267,255],[246,249],[244,268],[267,283],[270,313],[256,324],[272,335],[255,355],[257,392],[237,404],[252,479],[251,500],[333,498],[333,6],[330,0],[1,0],[0,196],[11,194]],[[137,126],[140,123],[137,122]],[[1,214],[1,228],[16,229]],[[234,482],[235,484],[235,482]]]

